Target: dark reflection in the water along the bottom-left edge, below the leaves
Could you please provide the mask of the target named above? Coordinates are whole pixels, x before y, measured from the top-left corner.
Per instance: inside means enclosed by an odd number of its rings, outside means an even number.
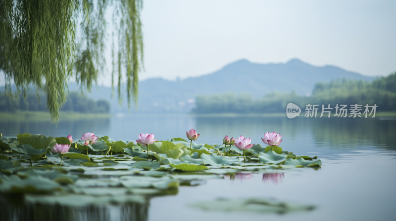
[[[87,207],[44,206],[23,202],[21,197],[0,196],[4,221],[147,221],[149,204],[126,203]]]

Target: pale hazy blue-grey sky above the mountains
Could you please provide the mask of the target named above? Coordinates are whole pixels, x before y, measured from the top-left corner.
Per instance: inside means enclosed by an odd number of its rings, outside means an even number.
[[[209,74],[239,59],[292,58],[388,75],[396,71],[395,10],[396,0],[144,0],[140,79]],[[110,74],[101,82],[109,85]]]

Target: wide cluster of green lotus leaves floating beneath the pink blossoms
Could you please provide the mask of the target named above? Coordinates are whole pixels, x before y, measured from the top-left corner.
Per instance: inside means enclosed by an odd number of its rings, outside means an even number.
[[[244,162],[242,151],[237,147],[197,144],[182,138],[156,141],[148,148],[131,141],[114,141],[107,136],[88,145],[84,145],[85,141],[70,144],[71,141],[65,137],[31,134],[1,138],[0,192],[24,194],[26,202],[43,205],[145,203],[152,196],[177,194],[180,185],[197,185],[208,179],[321,167],[317,157],[297,156],[275,146],[254,145],[245,151]],[[67,153],[56,153],[51,151],[55,144],[71,147]],[[249,200],[240,201],[241,208],[254,204],[256,209],[273,208],[275,212],[301,209]],[[207,209],[204,205],[209,203],[197,205]],[[216,207],[211,208],[228,205],[214,204]],[[254,208],[250,209],[256,210]]]

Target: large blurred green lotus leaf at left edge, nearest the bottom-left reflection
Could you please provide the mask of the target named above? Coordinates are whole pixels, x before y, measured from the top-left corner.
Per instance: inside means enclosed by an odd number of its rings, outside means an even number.
[[[19,178],[17,175],[0,175],[0,192],[10,193],[51,193],[61,191],[59,184],[41,176]]]

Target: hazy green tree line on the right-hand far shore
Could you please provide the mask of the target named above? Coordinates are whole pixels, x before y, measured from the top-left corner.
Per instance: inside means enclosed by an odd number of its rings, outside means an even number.
[[[265,87],[265,85],[263,85]],[[305,105],[329,104],[378,106],[377,111],[396,111],[396,73],[366,82],[362,80],[336,80],[317,83],[309,97],[296,93],[273,92],[263,98],[254,99],[251,94],[235,95],[225,93],[196,98],[195,113],[271,113],[284,112],[288,103],[299,105],[303,112]],[[334,110],[333,110],[334,111]]]

